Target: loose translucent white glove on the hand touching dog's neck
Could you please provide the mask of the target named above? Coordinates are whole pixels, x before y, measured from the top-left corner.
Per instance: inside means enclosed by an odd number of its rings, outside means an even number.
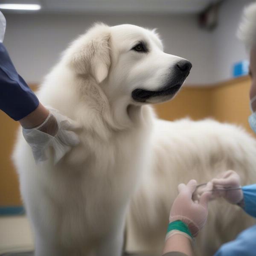
[[[49,109],[49,111],[49,116],[40,126],[22,129],[23,137],[32,148],[36,163],[47,160],[49,158],[48,148],[52,147],[53,162],[56,164],[80,142],[74,132],[79,128],[76,122],[55,109]]]

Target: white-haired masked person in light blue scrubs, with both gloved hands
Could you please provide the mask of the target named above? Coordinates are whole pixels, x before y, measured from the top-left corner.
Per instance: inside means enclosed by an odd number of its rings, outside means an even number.
[[[239,38],[250,52],[250,108],[249,124],[256,133],[256,3],[245,8],[244,17],[239,27]],[[256,157],[256,156],[255,156]],[[256,166],[255,166],[256,169]],[[197,183],[190,180],[187,185],[178,186],[179,195],[170,211],[169,226],[166,234],[164,256],[192,256],[193,239],[207,221],[209,197],[223,197],[230,204],[237,204],[244,211],[256,218],[256,184],[240,186],[240,177],[230,170],[212,179],[199,201],[192,201]],[[214,191],[222,186],[229,190]],[[212,187],[212,188],[211,188]],[[231,189],[231,190],[230,190]],[[216,191],[216,190],[215,190]],[[255,256],[256,225],[241,232],[234,241],[223,244],[214,256]]]

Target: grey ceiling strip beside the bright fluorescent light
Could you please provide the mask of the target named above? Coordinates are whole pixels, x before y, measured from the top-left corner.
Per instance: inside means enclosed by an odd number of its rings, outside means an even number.
[[[1,3],[39,3],[45,13],[198,13],[218,0],[1,0]],[[9,10],[5,12],[17,12]],[[20,11],[19,11],[20,12]],[[23,11],[24,12],[24,11]],[[27,11],[28,12],[28,11]]]

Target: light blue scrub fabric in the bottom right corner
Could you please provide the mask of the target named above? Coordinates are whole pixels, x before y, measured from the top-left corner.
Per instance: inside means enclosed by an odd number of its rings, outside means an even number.
[[[223,244],[214,256],[255,256],[256,225],[241,232],[237,238]]]

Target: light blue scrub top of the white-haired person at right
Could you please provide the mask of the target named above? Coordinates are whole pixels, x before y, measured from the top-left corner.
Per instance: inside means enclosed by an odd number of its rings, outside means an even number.
[[[256,218],[256,184],[243,186],[244,211]],[[256,225],[241,232],[237,238],[223,244],[214,256],[256,256]]]

